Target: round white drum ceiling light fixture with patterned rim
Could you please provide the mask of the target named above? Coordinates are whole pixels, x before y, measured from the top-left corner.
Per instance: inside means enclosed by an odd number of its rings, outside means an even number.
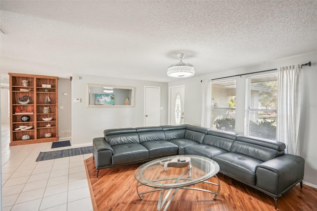
[[[194,66],[182,61],[184,53],[177,53],[177,57],[179,58],[179,62],[167,68],[167,75],[172,78],[187,78],[193,76],[195,74]]]

